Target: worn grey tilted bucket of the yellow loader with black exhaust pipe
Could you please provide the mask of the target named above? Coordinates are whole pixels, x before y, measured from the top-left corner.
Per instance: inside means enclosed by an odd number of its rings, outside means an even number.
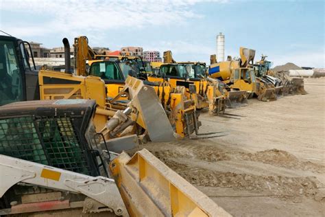
[[[153,87],[143,84],[142,80],[128,76],[125,80],[124,90],[130,94],[132,106],[139,111],[151,141],[173,141],[176,139]]]

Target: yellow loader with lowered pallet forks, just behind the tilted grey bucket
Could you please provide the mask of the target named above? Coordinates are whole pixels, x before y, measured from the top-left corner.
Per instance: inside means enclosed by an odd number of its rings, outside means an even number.
[[[108,90],[107,96],[110,98],[110,100],[108,100],[109,104],[118,103],[119,106],[127,104],[128,101],[125,100],[130,100],[131,98],[130,94],[125,93],[125,91],[121,91],[125,88],[124,83],[129,80],[130,84],[136,84],[136,82],[132,82],[132,80],[134,80],[132,77],[139,78],[143,80],[144,84],[147,84],[148,86],[152,87],[154,91],[156,91],[156,94],[158,95],[158,98],[160,99],[160,102],[167,113],[169,122],[179,137],[202,139],[206,137],[220,136],[214,135],[215,133],[199,133],[198,130],[201,123],[198,120],[199,114],[196,113],[193,100],[186,99],[184,97],[184,91],[171,89],[167,82],[148,82],[145,67],[143,67],[143,70],[141,70],[139,67],[139,62],[142,62],[142,58],[136,56],[107,55],[104,60],[92,60],[91,58],[94,55],[91,54],[94,52],[88,46],[86,36],[75,38],[74,47],[75,52],[77,52],[75,56],[84,57],[84,55],[80,55],[80,51],[85,52],[86,50],[89,50],[88,53],[90,55],[87,55],[87,58],[89,59],[79,58],[82,63],[76,62],[75,65],[84,67],[84,62],[86,60],[91,63],[89,75],[97,76],[104,80],[106,83],[106,89]],[[142,65],[144,66],[143,63]],[[124,102],[121,102],[121,100],[124,100]],[[145,100],[145,98],[143,98],[143,100]],[[195,133],[195,135],[191,136],[193,133]]]

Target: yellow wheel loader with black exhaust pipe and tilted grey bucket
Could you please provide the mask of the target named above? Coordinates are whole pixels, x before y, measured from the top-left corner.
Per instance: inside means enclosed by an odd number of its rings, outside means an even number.
[[[50,70],[36,71],[29,65],[29,55],[25,49],[25,44],[29,45],[27,42],[12,36],[0,36],[0,75],[3,78],[0,82],[0,104],[40,99],[93,99],[98,106],[94,117],[97,132],[107,128],[108,119],[114,117],[119,120],[114,126],[115,133],[105,135],[107,137],[120,137],[125,130],[132,128],[128,135],[134,133],[141,137],[147,135],[151,141],[175,139],[169,119],[152,87],[146,86],[141,81],[130,81],[123,89],[123,93],[132,97],[129,104],[120,106],[118,103],[108,103],[103,80],[94,76],[76,76],[72,73],[69,42],[67,38],[64,38],[63,42],[67,62],[65,73]],[[32,53],[30,46],[27,47]],[[34,62],[33,57],[32,60]],[[77,63],[80,64],[76,65],[78,75],[86,73],[84,72],[86,63],[83,61]],[[161,127],[165,130],[160,130]]]

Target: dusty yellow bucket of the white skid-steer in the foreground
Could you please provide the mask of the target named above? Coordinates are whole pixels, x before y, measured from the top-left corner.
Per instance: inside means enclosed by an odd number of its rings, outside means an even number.
[[[230,216],[146,149],[123,152],[110,172],[130,216]]]

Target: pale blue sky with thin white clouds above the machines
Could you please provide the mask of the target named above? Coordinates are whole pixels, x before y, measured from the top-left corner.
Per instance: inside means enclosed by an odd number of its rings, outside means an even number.
[[[0,0],[0,30],[45,47],[86,35],[91,46],[171,49],[176,61],[208,62],[215,37],[226,56],[239,47],[274,65],[325,67],[324,1],[16,1]]]

